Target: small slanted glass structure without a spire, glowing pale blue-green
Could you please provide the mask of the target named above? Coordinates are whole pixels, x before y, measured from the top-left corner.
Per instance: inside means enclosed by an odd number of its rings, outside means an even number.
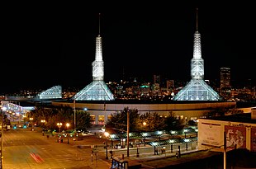
[[[38,94],[37,97],[39,97],[39,99],[61,99],[62,87],[61,86],[50,87],[46,91],[40,92],[40,94]]]

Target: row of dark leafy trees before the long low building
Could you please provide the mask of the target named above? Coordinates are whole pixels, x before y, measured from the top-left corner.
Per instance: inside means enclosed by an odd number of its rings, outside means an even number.
[[[125,107],[124,110],[111,114],[106,129],[112,132],[126,130],[128,111],[130,132],[178,130],[183,129],[186,124],[185,120],[178,119],[172,111],[167,116],[161,116],[156,112],[139,114],[137,109]],[[91,114],[87,110],[76,110],[75,116],[77,130],[87,131],[92,127]],[[69,129],[74,129],[74,110],[70,106],[36,106],[26,115],[24,121],[50,130],[59,129],[57,123],[62,123],[61,130],[66,130],[65,124],[69,123]]]

